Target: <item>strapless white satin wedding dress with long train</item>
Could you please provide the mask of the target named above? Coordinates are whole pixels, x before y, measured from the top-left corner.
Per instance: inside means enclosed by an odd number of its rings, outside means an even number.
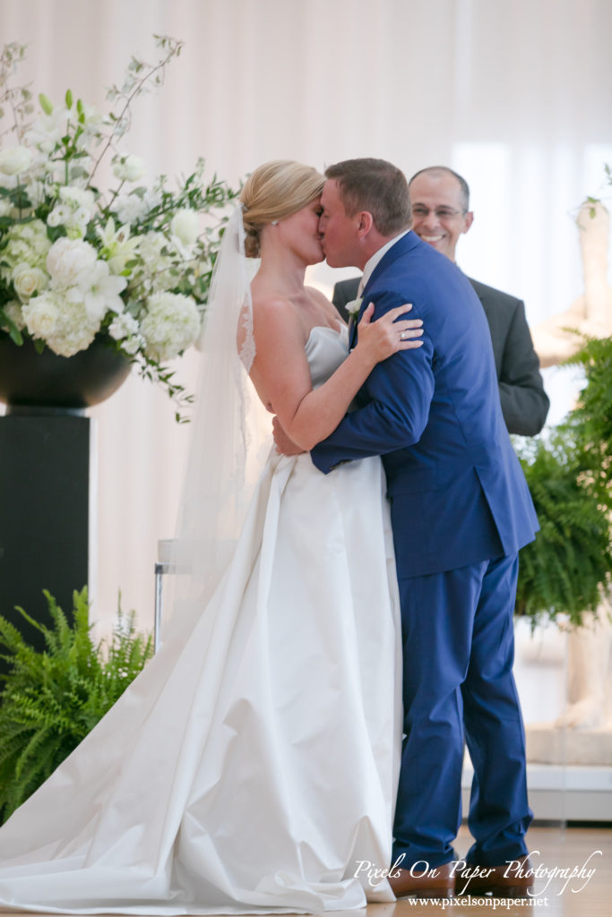
[[[346,357],[313,329],[315,384]],[[275,452],[227,573],[0,830],[3,910],[134,914],[394,900],[401,635],[378,458]],[[359,877],[355,878],[355,873]]]

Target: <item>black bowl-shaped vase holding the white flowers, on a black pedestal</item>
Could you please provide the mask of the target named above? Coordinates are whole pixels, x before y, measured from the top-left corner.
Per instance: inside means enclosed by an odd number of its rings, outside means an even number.
[[[17,346],[0,333],[0,402],[6,414],[33,408],[82,413],[117,392],[129,370],[129,360],[104,335],[73,357],[59,357],[49,348],[38,353],[28,339]]]

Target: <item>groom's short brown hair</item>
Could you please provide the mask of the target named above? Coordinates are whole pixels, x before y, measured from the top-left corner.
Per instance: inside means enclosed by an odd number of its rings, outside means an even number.
[[[338,182],[349,216],[360,210],[372,214],[382,236],[395,236],[410,226],[410,193],[403,171],[386,160],[344,160],[329,166],[326,177]]]

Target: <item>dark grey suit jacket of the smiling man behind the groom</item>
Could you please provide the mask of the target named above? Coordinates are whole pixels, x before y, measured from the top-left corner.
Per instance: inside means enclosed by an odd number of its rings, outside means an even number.
[[[495,370],[499,383],[502,414],[508,433],[535,436],[540,433],[550,401],[540,375],[540,360],[533,349],[525,304],[515,296],[468,278],[479,300],[491,332]],[[359,277],[339,281],[333,303],[348,321],[346,304],[357,296]]]

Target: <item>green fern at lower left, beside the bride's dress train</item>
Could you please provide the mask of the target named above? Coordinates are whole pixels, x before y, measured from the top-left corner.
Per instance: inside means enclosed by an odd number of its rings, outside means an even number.
[[[52,626],[17,611],[45,641],[28,645],[0,615],[0,654],[10,665],[0,696],[0,822],[28,799],[126,690],[152,655],[134,614],[119,608],[110,641],[94,644],[87,590],[73,593],[73,622],[45,591]]]

